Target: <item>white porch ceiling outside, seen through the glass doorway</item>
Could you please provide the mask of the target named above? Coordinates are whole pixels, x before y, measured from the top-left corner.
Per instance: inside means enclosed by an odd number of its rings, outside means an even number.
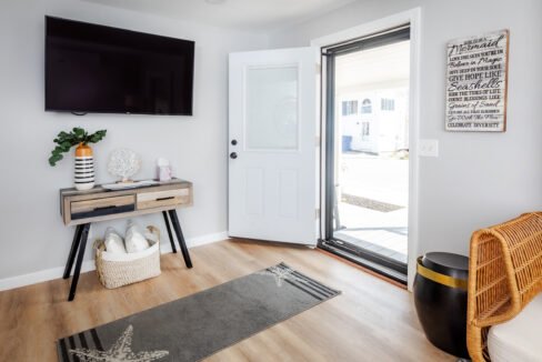
[[[409,74],[409,41],[340,56],[335,61],[335,87],[339,91],[405,83]]]

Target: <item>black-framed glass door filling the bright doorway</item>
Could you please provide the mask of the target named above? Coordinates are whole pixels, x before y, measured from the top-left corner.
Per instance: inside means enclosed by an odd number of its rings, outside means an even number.
[[[329,47],[323,57],[324,248],[405,282],[410,28]]]

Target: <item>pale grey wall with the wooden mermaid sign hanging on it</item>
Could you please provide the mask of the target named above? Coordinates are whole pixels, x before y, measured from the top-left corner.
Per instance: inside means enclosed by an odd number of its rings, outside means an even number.
[[[362,0],[277,32],[274,48],[320,38],[412,8],[422,9],[420,137],[440,141],[420,159],[420,248],[469,252],[472,231],[542,209],[542,1]],[[444,131],[445,44],[510,29],[508,131]]]

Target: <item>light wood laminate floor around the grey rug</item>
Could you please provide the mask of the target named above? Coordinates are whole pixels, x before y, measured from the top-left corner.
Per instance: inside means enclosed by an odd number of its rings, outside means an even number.
[[[243,240],[190,251],[193,269],[184,267],[180,253],[164,254],[159,278],[116,290],[102,288],[94,272],[81,274],[71,303],[66,280],[0,292],[0,361],[57,361],[54,342],[61,336],[280,261],[342,294],[205,361],[455,361],[425,340],[411,293],[322,251]]]

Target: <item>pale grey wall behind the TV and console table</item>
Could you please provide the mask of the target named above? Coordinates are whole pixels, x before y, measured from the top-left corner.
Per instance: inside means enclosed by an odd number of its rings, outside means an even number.
[[[44,112],[44,14],[194,40],[194,115],[76,117]],[[179,178],[194,183],[194,207],[179,212],[185,237],[198,240],[199,237],[205,239],[225,232],[227,54],[264,47],[267,38],[263,36],[145,16],[86,1],[2,0],[0,282],[9,276],[66,263],[73,229],[64,228],[61,221],[58,191],[71,187],[73,161],[70,155],[51,168],[48,157],[56,134],[76,125],[108,130],[104,141],[94,147],[97,181],[113,180],[107,173],[106,163],[116,148],[130,148],[143,157],[142,171],[137,175],[140,179],[154,175],[154,160],[158,157],[168,158]],[[141,218],[140,223],[163,227],[161,215]],[[123,228],[123,222],[116,222],[114,225]],[[104,227],[104,223],[92,227],[89,244],[102,234]],[[86,259],[91,257],[89,245]],[[57,275],[58,272],[56,270],[47,275]]]

